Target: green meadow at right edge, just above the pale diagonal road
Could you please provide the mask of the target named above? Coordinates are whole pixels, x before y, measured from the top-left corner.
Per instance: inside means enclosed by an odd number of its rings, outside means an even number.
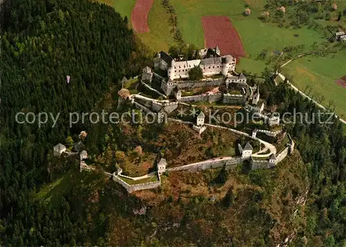
[[[335,80],[346,75],[345,64],[346,52],[327,57],[302,57],[287,64],[282,73],[293,75],[292,83],[302,91],[311,87],[313,93],[325,96],[322,104],[327,105],[329,100],[333,101],[338,115],[346,116],[346,89],[336,84]]]

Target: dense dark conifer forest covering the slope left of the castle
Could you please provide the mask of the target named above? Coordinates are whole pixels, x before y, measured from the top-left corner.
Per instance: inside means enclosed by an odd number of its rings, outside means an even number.
[[[133,33],[113,8],[86,0],[6,0],[1,10],[0,245],[84,243],[83,217],[33,194],[48,182],[48,150],[81,130],[69,129],[69,112],[91,111],[125,75]],[[19,111],[60,112],[60,121],[18,125]]]

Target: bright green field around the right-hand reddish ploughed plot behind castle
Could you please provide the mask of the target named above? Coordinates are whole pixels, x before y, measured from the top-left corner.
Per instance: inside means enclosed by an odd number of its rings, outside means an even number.
[[[268,48],[270,51],[280,50],[285,46],[304,44],[310,47],[313,42],[325,39],[315,30],[300,28],[279,28],[277,24],[263,23],[260,17],[265,1],[246,1],[252,12],[244,17],[242,1],[204,1],[204,0],[170,0],[178,17],[178,27],[185,42],[204,46],[204,32],[201,18],[209,16],[227,16],[235,26],[242,39],[248,59],[242,59],[240,66],[246,71],[255,73],[263,71],[264,62],[254,61],[257,55]],[[295,37],[297,36],[298,37]]]

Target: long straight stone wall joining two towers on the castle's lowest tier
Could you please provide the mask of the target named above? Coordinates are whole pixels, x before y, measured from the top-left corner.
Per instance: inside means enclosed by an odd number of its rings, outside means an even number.
[[[243,160],[240,157],[226,157],[226,158],[213,158],[212,160],[202,161],[198,163],[192,163],[189,165],[183,165],[180,167],[173,167],[166,169],[166,172],[176,172],[176,171],[190,171],[190,172],[198,172],[213,168],[220,168],[226,165],[226,169],[232,169],[237,167],[239,163],[242,163]]]

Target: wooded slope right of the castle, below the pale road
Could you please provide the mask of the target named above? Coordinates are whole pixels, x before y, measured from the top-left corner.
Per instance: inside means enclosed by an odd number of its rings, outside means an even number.
[[[297,229],[298,237],[291,246],[345,246],[346,137],[343,124],[329,118],[330,114],[321,113],[316,104],[302,98],[287,84],[274,86],[267,80],[261,90],[268,97],[268,105],[276,105],[280,113],[306,114],[302,122],[286,125],[287,131],[295,136],[310,181],[304,215],[307,223]]]

